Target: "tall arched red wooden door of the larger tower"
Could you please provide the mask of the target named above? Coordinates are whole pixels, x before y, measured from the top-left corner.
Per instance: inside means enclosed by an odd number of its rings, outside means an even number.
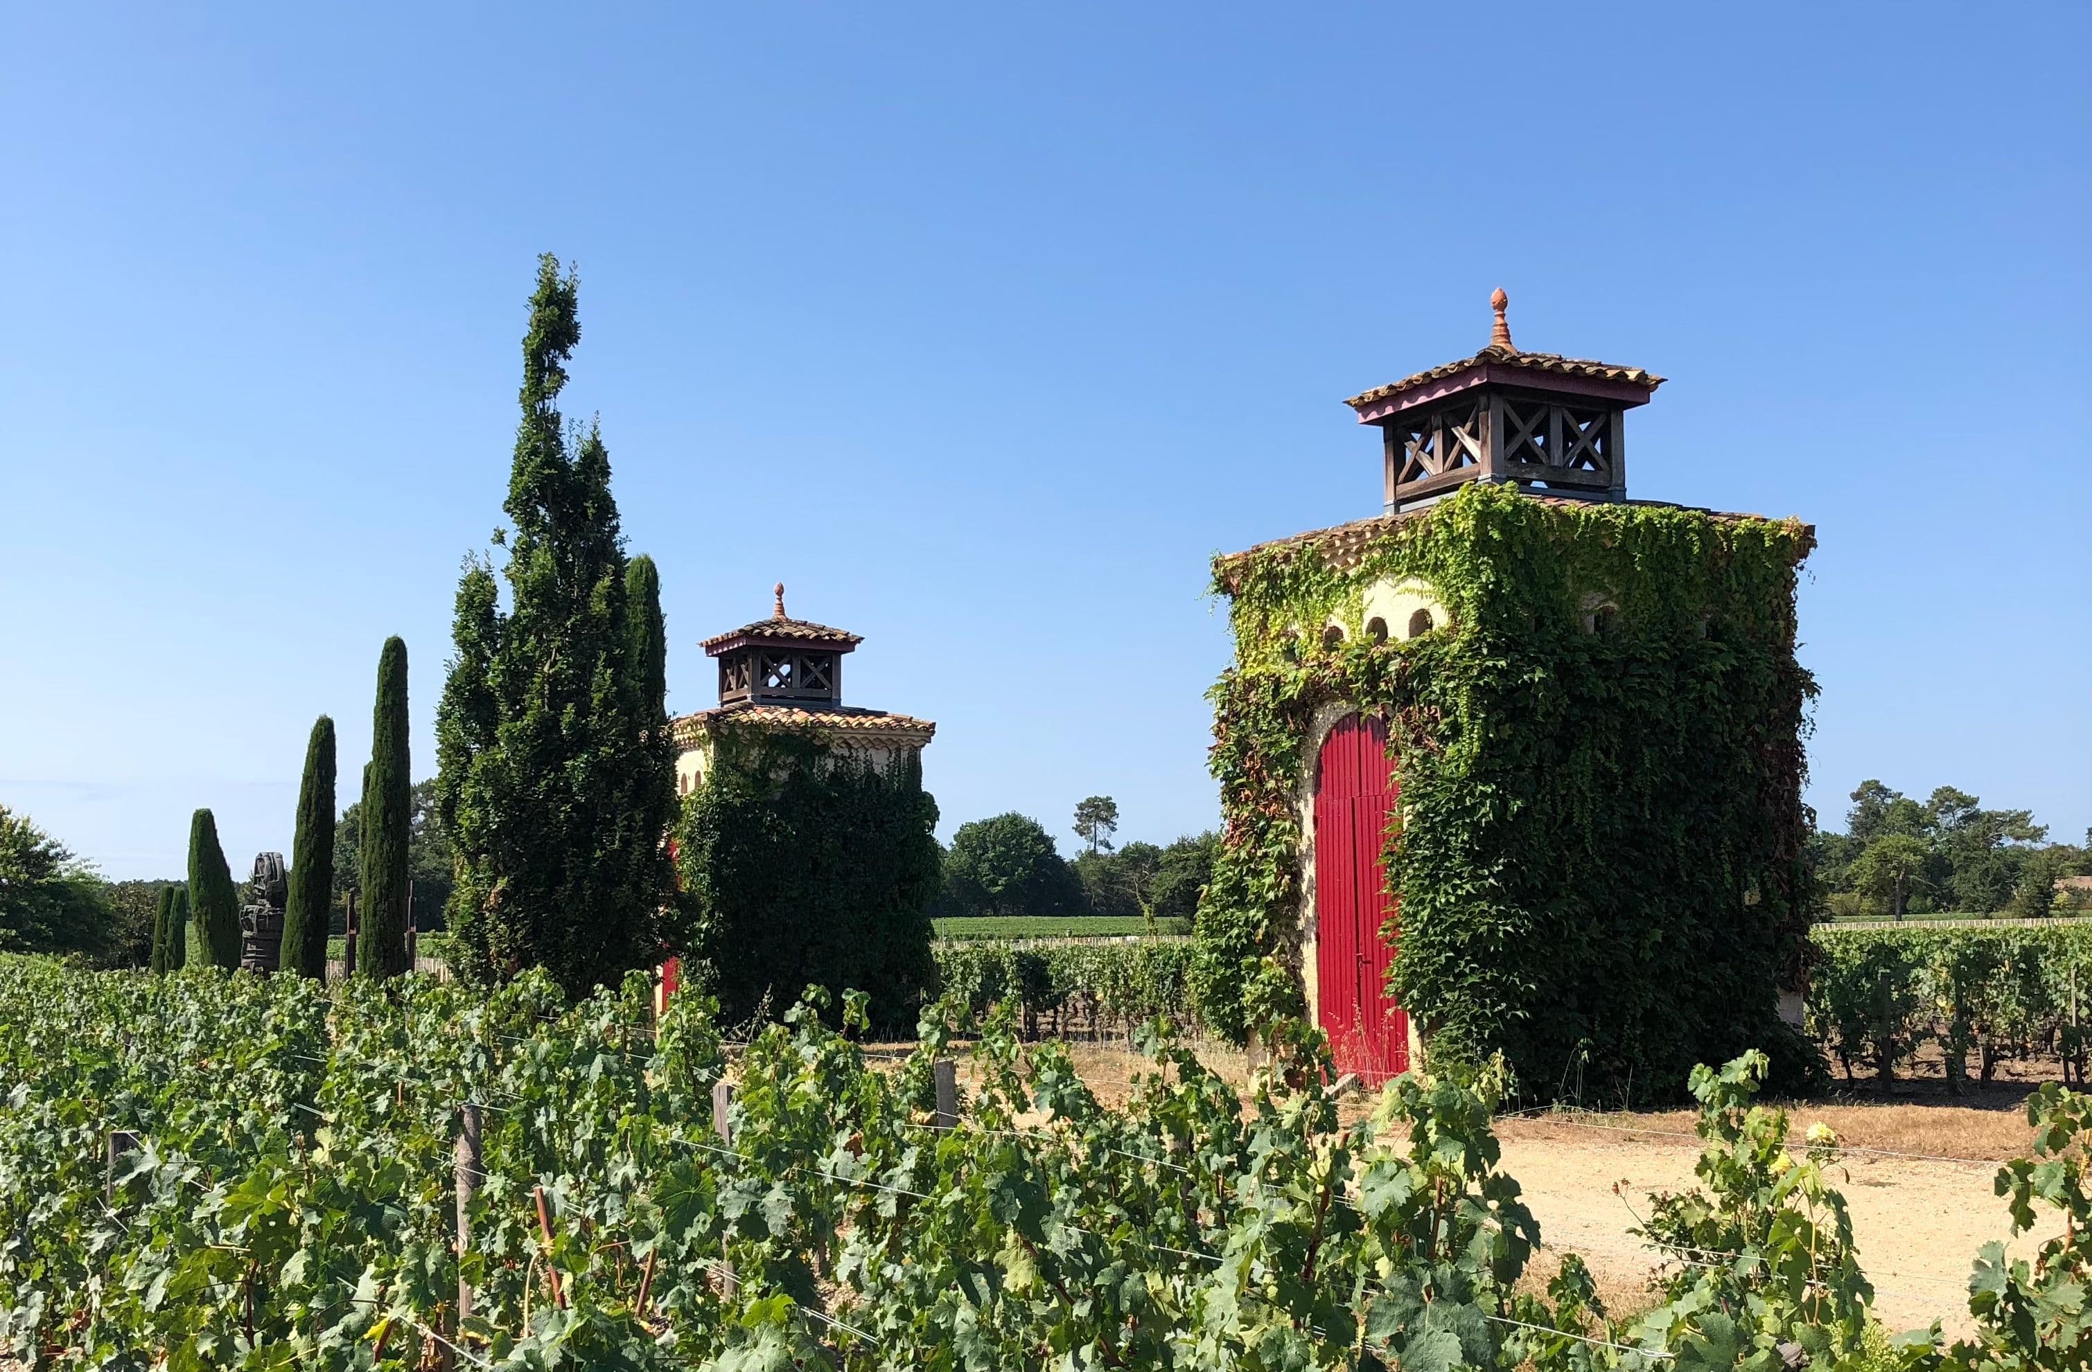
[[[1387,991],[1395,912],[1381,851],[1400,795],[1387,726],[1345,715],[1322,740],[1314,793],[1316,985],[1341,1071],[1385,1081],[1410,1069],[1410,1016]]]

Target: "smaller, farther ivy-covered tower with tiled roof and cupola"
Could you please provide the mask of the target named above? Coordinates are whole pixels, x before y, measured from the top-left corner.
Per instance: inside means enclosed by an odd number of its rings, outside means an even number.
[[[780,1014],[810,985],[870,996],[912,1029],[935,983],[937,803],[929,719],[843,705],[858,634],[784,613],[705,640],[720,703],[674,719],[676,864],[699,964],[728,1023]]]

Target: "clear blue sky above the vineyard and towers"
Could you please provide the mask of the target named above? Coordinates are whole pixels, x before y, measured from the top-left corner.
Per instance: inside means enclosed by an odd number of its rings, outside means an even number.
[[[1218,550],[1379,508],[1339,402],[1487,341],[1672,381],[1634,496],[1816,523],[1812,801],[2092,822],[2092,8],[0,10],[0,801],[111,876],[416,772],[533,257],[699,638],[851,627],[946,826],[1215,820]]]

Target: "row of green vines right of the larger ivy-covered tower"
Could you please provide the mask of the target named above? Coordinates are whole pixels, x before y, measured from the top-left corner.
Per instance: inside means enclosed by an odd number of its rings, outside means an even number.
[[[1958,1090],[1969,1054],[1989,1081],[2000,1060],[2056,1056],[2086,1079],[2092,922],[2040,927],[1818,927],[1807,1029],[1845,1079],[1889,1077],[1920,1046],[1946,1054]]]

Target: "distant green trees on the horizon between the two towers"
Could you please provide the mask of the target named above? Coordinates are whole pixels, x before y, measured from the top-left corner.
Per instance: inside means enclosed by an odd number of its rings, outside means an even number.
[[[1188,920],[1213,874],[1220,834],[1117,847],[1119,807],[1092,795],[1075,807],[1084,851],[1061,857],[1038,820],[1000,814],[960,824],[943,851],[939,916],[1113,914]]]

